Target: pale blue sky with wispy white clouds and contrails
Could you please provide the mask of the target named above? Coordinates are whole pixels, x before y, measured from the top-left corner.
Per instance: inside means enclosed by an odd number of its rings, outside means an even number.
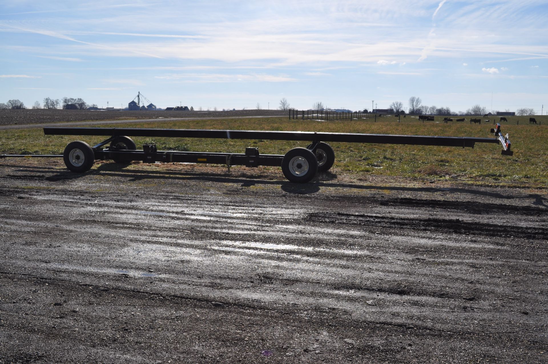
[[[535,0],[5,0],[0,102],[119,107],[140,91],[159,107],[361,110],[419,96],[540,113],[547,20]]]

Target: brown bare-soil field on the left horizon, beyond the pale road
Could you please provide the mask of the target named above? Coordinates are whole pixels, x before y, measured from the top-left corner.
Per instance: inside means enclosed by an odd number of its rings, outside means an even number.
[[[216,117],[255,117],[287,116],[281,110],[236,110],[236,111],[93,111],[93,110],[54,110],[54,109],[0,109],[0,127],[28,124],[79,121],[112,121],[124,119],[170,118],[216,118]]]

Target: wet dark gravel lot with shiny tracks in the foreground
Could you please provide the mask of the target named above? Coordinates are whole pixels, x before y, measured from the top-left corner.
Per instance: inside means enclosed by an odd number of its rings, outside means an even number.
[[[546,362],[545,192],[201,168],[2,161],[0,363]]]

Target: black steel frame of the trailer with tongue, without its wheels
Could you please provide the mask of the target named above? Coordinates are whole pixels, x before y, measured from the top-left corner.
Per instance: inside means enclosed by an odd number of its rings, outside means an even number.
[[[500,132],[500,124],[491,129],[495,138],[471,138],[467,136],[426,136],[426,135],[390,135],[322,132],[275,132],[263,130],[201,130],[201,129],[137,129],[137,128],[44,128],[45,135],[102,135],[108,139],[92,147],[95,159],[127,160],[143,162],[186,162],[226,164],[227,166],[281,166],[283,155],[260,154],[258,148],[246,148],[246,153],[210,153],[158,151],[155,144],[146,144],[143,150],[119,150],[103,146],[116,136],[149,136],[168,138],[216,138],[216,139],[262,139],[311,141],[309,149],[316,152],[317,145],[323,142],[410,144],[433,146],[473,147],[476,143],[501,143],[502,153],[512,155],[508,135]],[[63,157],[62,155],[0,155],[8,157]]]

